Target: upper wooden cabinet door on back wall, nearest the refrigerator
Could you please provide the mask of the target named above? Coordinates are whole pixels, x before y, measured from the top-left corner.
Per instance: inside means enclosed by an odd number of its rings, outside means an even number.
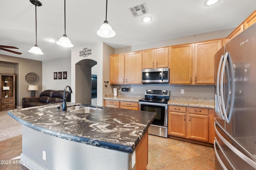
[[[221,39],[195,43],[194,84],[214,84],[214,54],[221,47]]]

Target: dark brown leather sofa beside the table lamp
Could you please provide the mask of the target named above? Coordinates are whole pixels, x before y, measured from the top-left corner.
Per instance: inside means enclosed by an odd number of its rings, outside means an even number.
[[[24,97],[22,99],[22,108],[48,105],[52,103],[63,102],[63,90],[45,90],[39,97]],[[66,101],[71,101],[71,94],[66,91]]]

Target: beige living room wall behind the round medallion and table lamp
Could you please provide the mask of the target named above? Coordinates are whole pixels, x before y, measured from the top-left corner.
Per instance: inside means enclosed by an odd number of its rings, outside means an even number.
[[[38,85],[36,96],[40,95],[42,92],[42,61],[0,54],[0,63],[0,73],[13,71],[11,74],[16,75],[16,107],[22,108],[22,98],[30,97],[28,85]],[[8,64],[6,65],[5,63]],[[25,80],[25,75],[30,72],[38,75],[38,81],[36,83],[28,83]]]

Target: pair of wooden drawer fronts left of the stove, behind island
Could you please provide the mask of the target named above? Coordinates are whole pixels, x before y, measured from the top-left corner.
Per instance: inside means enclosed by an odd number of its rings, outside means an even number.
[[[139,109],[138,102],[127,102],[127,101],[104,100],[104,106],[120,108],[120,109],[130,109],[130,110],[136,110],[136,111],[138,111]]]

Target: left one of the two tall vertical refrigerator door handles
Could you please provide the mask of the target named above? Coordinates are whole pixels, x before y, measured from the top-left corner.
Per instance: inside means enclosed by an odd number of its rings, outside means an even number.
[[[222,108],[221,108],[221,103],[220,103],[220,69],[221,69],[221,66],[222,66],[222,63],[223,63],[223,58],[224,58],[224,55],[222,55],[220,57],[220,63],[219,63],[219,67],[218,67],[218,72],[217,72],[217,81],[216,81],[216,98],[217,98],[217,105],[218,105],[218,108],[220,110],[220,113],[217,112],[217,116],[220,118],[220,119],[225,119],[224,118],[224,114],[223,114],[223,111],[222,111]]]

